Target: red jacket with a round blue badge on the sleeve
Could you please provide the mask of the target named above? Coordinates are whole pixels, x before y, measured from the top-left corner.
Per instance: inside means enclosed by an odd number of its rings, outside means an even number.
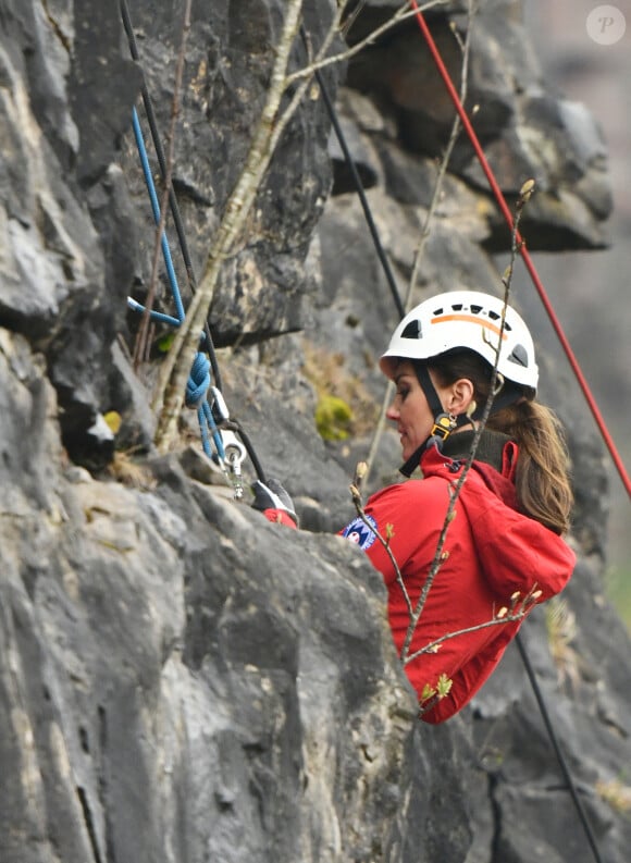
[[[448,553],[429,591],[408,655],[442,636],[492,620],[510,606],[518,591],[525,596],[541,590],[539,602],[558,593],[576,563],[573,552],[548,528],[517,509],[512,482],[518,449],[508,443],[502,472],[474,461],[456,503],[444,552]],[[412,607],[431,569],[449,505],[449,490],[462,465],[437,448],[421,458],[422,480],[389,485],[372,495],[366,515],[385,539],[401,572]],[[387,528],[387,526],[392,526]],[[356,518],[342,534],[357,542],[385,580],[393,637],[400,653],[409,626],[409,611],[396,570],[375,534]],[[441,723],[475,694],[502,658],[520,621],[493,625],[442,642],[405,665],[419,699],[441,675],[451,680],[449,693],[422,718]]]

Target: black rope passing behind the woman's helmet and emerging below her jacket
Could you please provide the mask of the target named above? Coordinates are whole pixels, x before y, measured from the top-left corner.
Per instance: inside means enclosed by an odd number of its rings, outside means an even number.
[[[305,32],[304,30],[302,30],[302,39],[306,41],[306,36],[305,36]],[[326,88],[324,86],[324,83],[322,81],[322,76],[320,75],[320,71],[319,70],[316,71],[316,77],[318,79],[318,84],[319,84],[320,90],[322,93],[322,98],[324,100],[324,104],[326,106],[326,110],[329,111],[329,115],[331,118],[331,122],[333,124],[333,128],[335,130],[335,134],[337,136],[337,140],[339,141],[339,146],[342,147],[342,151],[344,152],[344,158],[346,159],[346,163],[347,163],[348,170],[350,171],[350,174],[352,176],[352,180],[354,180],[354,183],[355,183],[355,186],[356,186],[356,189],[357,189],[357,194],[359,195],[359,198],[361,200],[361,206],[362,206],[363,212],[366,214],[366,220],[368,222],[368,227],[369,227],[370,233],[372,235],[372,238],[374,241],[375,250],[376,250],[379,259],[380,259],[380,261],[382,263],[382,267],[383,267],[385,276],[387,279],[389,288],[392,291],[392,294],[393,294],[393,297],[394,297],[394,300],[395,300],[395,305],[397,307],[397,311],[399,312],[399,316],[403,318],[405,316],[405,309],[404,309],[404,306],[401,304],[400,297],[398,295],[398,289],[397,289],[396,283],[394,281],[392,269],[389,267],[389,263],[388,263],[387,258],[385,256],[385,252],[383,250],[383,246],[382,246],[381,241],[379,238],[379,233],[378,233],[378,230],[376,230],[376,226],[375,226],[375,223],[374,223],[374,219],[372,218],[372,213],[371,213],[371,210],[370,210],[370,205],[369,205],[369,202],[367,200],[367,197],[366,197],[366,194],[363,192],[363,185],[361,183],[361,178],[359,176],[359,173],[358,173],[357,168],[355,165],[355,161],[352,159],[352,156],[350,153],[350,150],[349,150],[348,145],[346,143],[346,139],[344,137],[344,133],[342,131],[342,126],[339,124],[335,108],[334,108],[334,106],[333,106],[333,103],[331,101],[331,98],[330,98],[329,94],[326,93]],[[577,813],[579,815],[579,819],[580,819],[580,822],[581,822],[581,824],[583,826],[583,829],[584,829],[585,835],[587,837],[587,841],[589,841],[590,847],[591,847],[591,849],[593,851],[594,860],[596,861],[596,863],[603,863],[603,859],[602,859],[601,853],[598,851],[598,846],[596,843],[596,840],[595,840],[595,837],[594,837],[594,833],[593,833],[592,827],[590,825],[590,822],[587,819],[587,816],[586,816],[585,810],[583,807],[583,804],[582,804],[582,802],[581,802],[581,800],[579,798],[579,794],[578,794],[578,791],[577,791],[577,787],[576,787],[574,781],[572,779],[572,776],[571,776],[570,769],[568,767],[567,761],[565,759],[565,755],[561,752],[561,749],[559,747],[558,738],[556,736],[554,726],[552,724],[552,719],[550,719],[549,713],[547,711],[546,704],[544,702],[543,694],[542,694],[541,688],[540,688],[537,679],[536,679],[536,675],[534,673],[534,669],[533,669],[532,664],[530,662],[530,657],[528,656],[525,646],[523,645],[519,633],[517,634],[516,640],[517,640],[517,646],[519,649],[519,653],[520,653],[521,659],[522,659],[524,668],[525,668],[525,673],[528,675],[528,678],[529,678],[529,680],[531,682],[534,695],[536,698],[536,702],[539,704],[539,708],[541,711],[541,714],[542,714],[542,717],[543,717],[544,725],[546,727],[548,737],[549,737],[552,745],[553,745],[553,748],[555,750],[555,753],[556,753],[556,756],[558,759],[559,765],[561,767],[562,774],[564,774],[564,776],[566,778],[566,781],[568,784],[568,788],[569,788],[570,794],[572,797],[574,806],[577,809]]]

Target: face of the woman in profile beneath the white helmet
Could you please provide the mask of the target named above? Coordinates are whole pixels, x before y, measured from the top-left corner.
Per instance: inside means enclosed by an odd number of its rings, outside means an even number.
[[[438,398],[443,400],[442,387],[437,385],[431,370],[430,377]],[[404,461],[406,461],[430,436],[434,417],[411,362],[403,360],[397,365],[393,374],[393,382],[396,386],[396,393],[392,405],[386,410],[386,417],[397,424],[401,442],[401,455]]]

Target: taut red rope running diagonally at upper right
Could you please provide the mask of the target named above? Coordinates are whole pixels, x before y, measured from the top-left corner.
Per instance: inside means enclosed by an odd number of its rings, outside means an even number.
[[[475,155],[478,156],[478,159],[480,161],[480,165],[481,165],[482,170],[484,171],[484,174],[486,175],[486,180],[488,181],[488,185],[491,186],[491,190],[493,192],[493,194],[495,196],[495,199],[497,200],[497,204],[499,205],[499,209],[502,210],[502,213],[503,213],[504,218],[506,219],[506,221],[508,223],[508,226],[510,227],[510,230],[512,230],[514,222],[512,222],[512,214],[510,212],[510,209],[508,208],[508,205],[506,204],[506,199],[505,199],[505,197],[504,197],[504,195],[502,193],[502,189],[499,188],[499,186],[497,184],[497,181],[495,178],[493,170],[492,170],[491,165],[488,164],[488,162],[486,160],[486,157],[484,156],[484,151],[482,150],[482,147],[480,145],[480,140],[478,139],[478,135],[475,134],[475,131],[474,131],[473,126],[471,125],[471,122],[470,122],[469,118],[467,116],[467,113],[465,111],[462,102],[460,101],[460,97],[458,96],[458,93],[457,93],[457,90],[456,90],[456,88],[454,86],[454,83],[453,83],[451,78],[449,77],[449,73],[447,72],[445,63],[443,62],[443,58],[441,57],[441,52],[438,51],[438,49],[436,47],[436,42],[434,41],[434,39],[432,37],[432,34],[430,33],[430,29],[429,29],[429,27],[428,27],[428,25],[425,23],[425,19],[423,17],[423,15],[422,15],[422,13],[421,13],[416,0],[410,0],[410,5],[411,5],[411,8],[413,10],[416,10],[417,21],[419,23],[419,27],[421,28],[421,33],[423,34],[423,36],[425,38],[425,41],[428,44],[428,48],[430,49],[430,52],[431,52],[431,54],[432,54],[432,57],[434,59],[434,62],[436,63],[438,72],[440,72],[443,81],[445,82],[445,86],[447,87],[447,91],[449,93],[449,97],[451,98],[451,101],[454,102],[454,104],[456,107],[456,111],[458,112],[460,121],[462,122],[462,126],[465,127],[465,131],[467,132],[467,135],[469,136],[469,140],[471,141],[471,144],[473,146],[473,149],[475,150]],[[622,484],[624,485],[624,489],[627,490],[627,494],[631,497],[631,480],[629,479],[629,474],[627,473],[624,465],[622,464],[622,459],[620,458],[620,455],[619,455],[619,453],[618,453],[618,451],[616,448],[616,444],[614,443],[614,440],[613,440],[611,435],[609,434],[609,430],[607,429],[607,426],[605,423],[603,415],[601,414],[601,411],[598,409],[596,400],[594,399],[594,396],[592,395],[590,386],[589,386],[589,384],[587,384],[587,382],[586,382],[586,380],[585,380],[585,378],[583,375],[583,372],[581,371],[581,367],[579,366],[579,362],[578,362],[578,360],[577,360],[577,358],[576,358],[576,356],[574,356],[574,354],[572,352],[572,348],[570,347],[570,343],[568,342],[568,340],[566,337],[566,334],[562,331],[560,322],[559,322],[557,316],[556,316],[556,312],[555,312],[555,310],[554,310],[554,308],[552,306],[552,303],[550,303],[550,300],[549,300],[549,298],[548,298],[548,296],[546,294],[546,291],[545,291],[545,288],[544,288],[544,286],[542,284],[542,281],[541,281],[540,276],[539,276],[539,273],[536,272],[534,263],[532,262],[532,259],[531,259],[531,257],[530,257],[530,255],[528,252],[528,249],[525,248],[525,245],[523,244],[523,241],[522,241],[522,238],[521,238],[521,236],[519,234],[517,235],[517,241],[520,243],[520,254],[521,254],[521,257],[522,257],[523,262],[525,264],[525,269],[530,273],[532,282],[533,282],[533,284],[534,284],[534,286],[535,286],[535,288],[536,288],[536,291],[539,293],[541,301],[543,303],[543,306],[544,306],[544,308],[545,308],[545,310],[547,312],[547,316],[548,316],[548,318],[550,320],[550,323],[552,323],[552,325],[553,325],[553,328],[554,328],[554,330],[555,330],[555,332],[557,334],[557,337],[558,337],[559,342],[561,343],[561,346],[562,346],[562,348],[564,348],[564,350],[566,353],[566,356],[567,356],[568,361],[569,361],[569,363],[570,363],[570,366],[572,368],[572,371],[574,372],[574,375],[576,375],[576,378],[577,378],[577,380],[578,380],[578,382],[579,382],[579,384],[581,386],[581,390],[583,391],[583,395],[585,396],[585,400],[587,402],[590,410],[592,411],[592,414],[594,416],[594,419],[596,420],[596,424],[598,426],[601,434],[603,435],[603,440],[604,440],[605,444],[607,445],[607,448],[609,449],[609,453],[611,455],[614,464],[615,464],[615,466],[616,466],[616,468],[618,470],[618,473],[620,474],[620,479],[622,480]]]

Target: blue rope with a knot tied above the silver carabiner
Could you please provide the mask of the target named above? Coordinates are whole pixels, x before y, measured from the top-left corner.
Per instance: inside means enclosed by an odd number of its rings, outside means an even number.
[[[147,148],[145,147],[145,139],[143,137],[143,130],[140,128],[140,121],[138,119],[138,112],[136,111],[136,108],[133,109],[133,122],[134,122],[134,136],[136,138],[136,147],[138,148],[140,164],[143,167],[143,173],[145,175],[145,183],[147,185],[147,190],[149,192],[149,199],[151,201],[151,209],[153,211],[153,220],[156,224],[159,225],[160,204],[158,201],[158,195],[156,193],[156,184],[153,183],[153,175],[151,174],[149,157],[147,156]],[[173,301],[175,303],[177,318],[173,318],[171,315],[163,315],[160,311],[153,311],[153,310],[150,311],[150,316],[153,320],[160,321],[162,323],[169,323],[173,326],[180,326],[180,324],[184,321],[185,311],[184,311],[184,305],[182,303],[182,295],[180,293],[180,285],[177,284],[175,268],[173,267],[173,259],[171,257],[169,241],[166,238],[166,234],[164,231],[162,232],[162,235],[160,237],[160,244],[162,246],[162,257],[164,258],[164,264],[166,267],[166,274],[169,276],[169,284],[171,285],[171,294],[173,296]],[[127,299],[127,305],[134,311],[144,312],[146,310],[145,306],[143,306],[140,303],[137,303],[135,299],[132,299],[131,297]],[[199,431],[201,434],[201,446],[206,455],[209,458],[213,458],[214,456],[214,453],[212,452],[212,447],[210,445],[210,439],[212,437],[214,442],[214,446],[216,448],[216,455],[220,457],[220,459],[224,460],[225,449],[223,446],[223,440],[219,429],[216,428],[214,417],[212,416],[211,407],[208,404],[207,395],[211,383],[212,381],[210,377],[210,360],[205,354],[198,352],[195,355],[195,359],[190,368],[190,373],[188,375],[188,381],[186,384],[185,403],[187,407],[197,409],[197,419],[199,422]]]

